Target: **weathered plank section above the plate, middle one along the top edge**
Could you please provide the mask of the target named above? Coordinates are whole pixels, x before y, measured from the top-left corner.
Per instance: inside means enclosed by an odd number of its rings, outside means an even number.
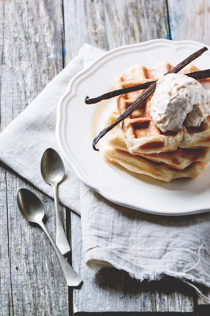
[[[169,38],[165,0],[64,0],[63,8],[66,63],[86,42],[109,50]]]

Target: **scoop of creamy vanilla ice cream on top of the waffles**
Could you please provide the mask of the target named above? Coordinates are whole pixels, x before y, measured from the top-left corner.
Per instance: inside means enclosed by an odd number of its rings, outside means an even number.
[[[187,127],[199,127],[210,115],[210,92],[186,75],[165,75],[151,98],[151,115],[162,132],[177,132],[185,119]]]

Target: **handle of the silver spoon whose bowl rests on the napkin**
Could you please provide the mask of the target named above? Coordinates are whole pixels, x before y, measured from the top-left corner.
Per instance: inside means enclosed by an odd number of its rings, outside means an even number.
[[[56,245],[60,249],[62,254],[68,253],[71,248],[69,246],[68,240],[66,238],[62,222],[60,219],[59,209],[58,209],[58,196],[57,196],[57,185],[52,184],[53,194],[54,194],[54,204],[55,204],[55,217],[56,217]]]

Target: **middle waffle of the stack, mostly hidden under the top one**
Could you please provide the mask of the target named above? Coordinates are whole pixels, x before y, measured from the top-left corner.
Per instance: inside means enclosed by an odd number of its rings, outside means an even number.
[[[110,125],[116,118],[117,111],[113,108],[107,117],[105,125]],[[106,141],[113,148],[128,152],[119,124],[107,133]],[[152,162],[165,163],[172,168],[183,170],[194,162],[208,163],[210,161],[210,147],[196,149],[178,147],[175,151],[141,153],[140,155]]]

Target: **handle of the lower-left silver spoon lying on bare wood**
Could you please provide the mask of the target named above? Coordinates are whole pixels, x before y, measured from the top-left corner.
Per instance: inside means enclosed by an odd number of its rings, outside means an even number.
[[[56,244],[54,243],[53,239],[51,238],[48,230],[46,229],[46,226],[42,221],[37,222],[39,226],[42,228],[42,230],[45,232],[46,236],[48,237],[52,247],[55,250],[55,253],[58,257],[58,260],[60,262],[60,265],[62,267],[63,273],[65,275],[65,279],[67,281],[68,286],[72,287],[78,287],[82,283],[82,279],[80,276],[75,272],[75,270],[72,268],[71,265],[66,261]]]

